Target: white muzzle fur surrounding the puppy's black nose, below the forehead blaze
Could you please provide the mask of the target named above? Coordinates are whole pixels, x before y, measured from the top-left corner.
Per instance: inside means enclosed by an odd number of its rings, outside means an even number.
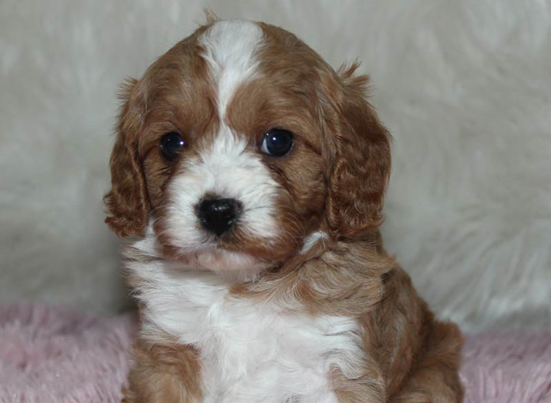
[[[244,254],[224,252],[212,259],[216,239],[203,230],[196,216],[200,199],[211,193],[238,200],[242,205],[240,230],[267,246],[279,235],[275,199],[280,186],[260,157],[247,148],[247,140],[222,124],[211,144],[198,157],[183,160],[167,188],[167,234],[183,253],[199,253],[198,266],[211,270],[250,271],[264,268]]]

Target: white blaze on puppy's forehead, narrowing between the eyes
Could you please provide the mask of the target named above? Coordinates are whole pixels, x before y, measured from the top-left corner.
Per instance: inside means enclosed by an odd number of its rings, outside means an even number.
[[[238,86],[257,73],[255,52],[262,44],[262,29],[251,21],[218,21],[200,36],[199,43],[216,82],[218,113],[224,118]]]

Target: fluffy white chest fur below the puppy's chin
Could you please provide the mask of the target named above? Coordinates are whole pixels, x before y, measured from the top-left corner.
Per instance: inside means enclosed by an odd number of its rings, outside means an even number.
[[[229,295],[216,274],[169,263],[129,263],[143,281],[143,332],[159,331],[200,350],[205,403],[337,402],[331,370],[355,377],[362,350],[357,323],[338,316],[298,316]]]

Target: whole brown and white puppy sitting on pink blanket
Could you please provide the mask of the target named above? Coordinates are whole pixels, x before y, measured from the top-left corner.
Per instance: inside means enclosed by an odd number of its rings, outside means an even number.
[[[127,403],[460,402],[377,227],[390,136],[357,65],[208,21],[123,88],[107,224],[141,312]]]

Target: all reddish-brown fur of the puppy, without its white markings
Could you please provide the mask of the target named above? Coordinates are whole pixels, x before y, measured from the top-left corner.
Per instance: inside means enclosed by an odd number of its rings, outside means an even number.
[[[178,161],[160,157],[158,140],[167,131],[183,133],[185,158],[197,155],[220,126],[216,88],[197,42],[208,27],[125,86],[111,157],[107,224],[121,236],[140,234],[154,210],[166,259],[178,257],[178,246],[163,235],[165,188],[185,172]],[[296,142],[288,156],[264,159],[282,189],[283,235],[270,249],[239,231],[221,244],[271,263],[255,282],[236,284],[233,296],[281,301],[305,316],[355,318],[366,353],[363,375],[331,374],[340,402],[460,402],[459,329],[435,320],[409,276],[384,252],[377,231],[391,168],[390,135],[366,100],[368,78],[354,75],[357,64],[335,72],[293,34],[260,27],[260,74],[237,89],[227,124],[249,136],[251,146],[274,125],[293,131]],[[329,239],[300,254],[313,230]],[[156,345],[139,340],[125,402],[200,402],[199,355],[169,338]]]

